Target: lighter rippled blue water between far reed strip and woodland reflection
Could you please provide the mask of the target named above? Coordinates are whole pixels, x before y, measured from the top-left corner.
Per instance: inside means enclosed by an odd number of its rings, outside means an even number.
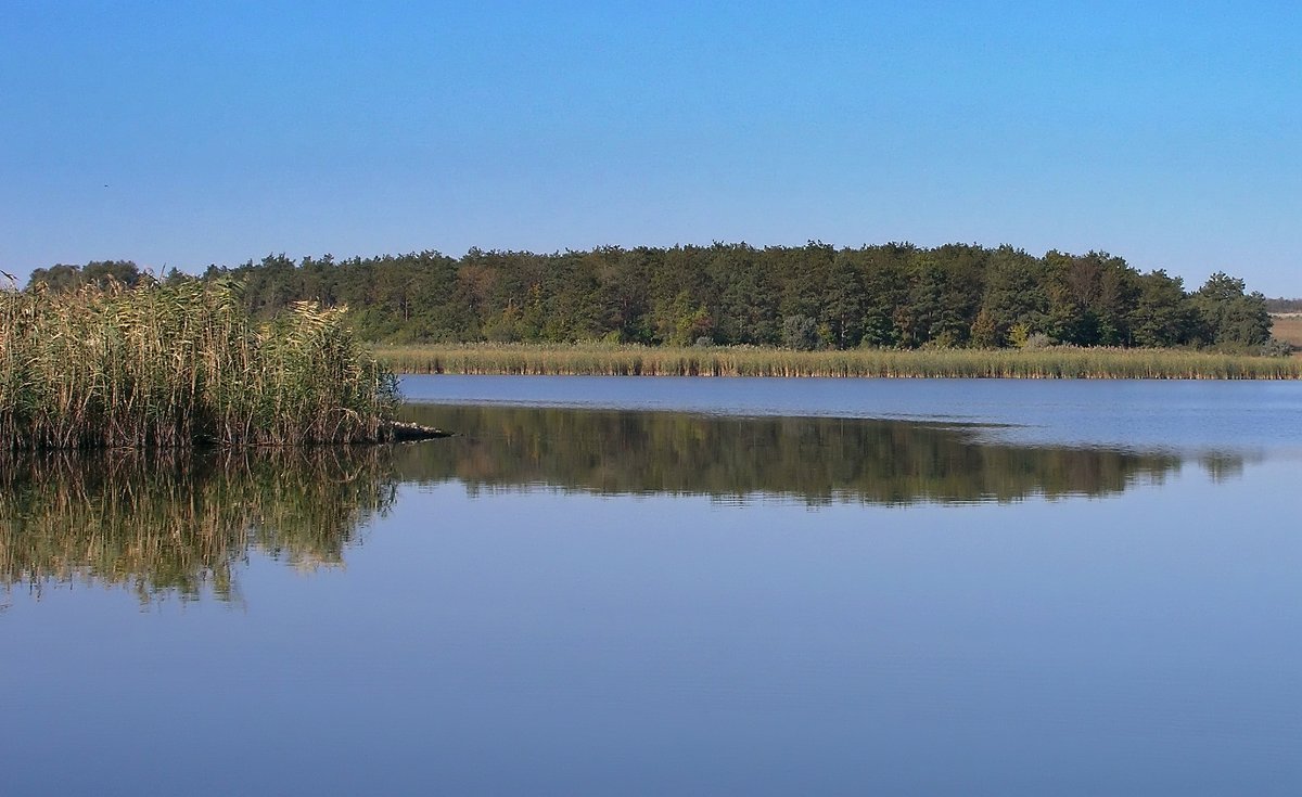
[[[439,404],[876,418],[980,425],[1032,444],[1302,452],[1302,387],[1290,382],[408,376],[404,389]]]

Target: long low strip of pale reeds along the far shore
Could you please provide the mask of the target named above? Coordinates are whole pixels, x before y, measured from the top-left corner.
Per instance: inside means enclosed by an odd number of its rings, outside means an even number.
[[[1167,349],[941,349],[793,352],[575,344],[384,346],[376,358],[404,374],[643,376],[893,376],[1022,379],[1302,379],[1295,358]]]

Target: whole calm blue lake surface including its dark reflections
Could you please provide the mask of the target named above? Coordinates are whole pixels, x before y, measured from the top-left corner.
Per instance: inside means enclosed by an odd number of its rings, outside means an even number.
[[[424,378],[4,464],[5,794],[1302,793],[1302,385]]]

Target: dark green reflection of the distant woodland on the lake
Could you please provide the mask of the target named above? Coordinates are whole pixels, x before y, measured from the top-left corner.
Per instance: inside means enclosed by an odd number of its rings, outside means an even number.
[[[404,474],[471,488],[771,494],[811,504],[1010,501],[1121,492],[1181,464],[1170,453],[980,443],[963,428],[896,421],[514,406],[408,412],[465,436],[404,449]]]

